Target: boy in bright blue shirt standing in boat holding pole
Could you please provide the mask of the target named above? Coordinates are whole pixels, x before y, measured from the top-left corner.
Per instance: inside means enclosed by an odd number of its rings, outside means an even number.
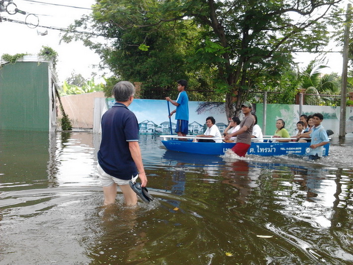
[[[171,102],[176,106],[176,109],[169,113],[169,118],[172,117],[174,113],[176,113],[176,134],[178,136],[186,136],[189,132],[189,98],[187,97],[186,80],[179,80],[177,83],[177,90],[179,91],[179,95],[177,96],[176,101],[172,100],[169,96],[166,97],[166,100]]]

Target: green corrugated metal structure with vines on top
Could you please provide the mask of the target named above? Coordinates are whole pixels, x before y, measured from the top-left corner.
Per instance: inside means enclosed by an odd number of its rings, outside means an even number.
[[[52,63],[25,55],[0,61],[0,129],[55,131],[56,78]]]

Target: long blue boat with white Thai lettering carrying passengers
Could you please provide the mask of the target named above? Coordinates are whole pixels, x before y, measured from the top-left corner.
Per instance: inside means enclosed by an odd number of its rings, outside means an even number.
[[[191,154],[203,154],[203,155],[224,155],[224,153],[231,149],[235,143],[198,143],[192,142],[190,137],[176,137],[174,138],[188,138],[186,141],[180,141],[179,139],[173,139],[171,135],[161,136],[163,145],[171,151],[191,153]],[[167,140],[166,138],[171,138]],[[268,140],[264,140],[268,141]],[[330,144],[324,146],[323,156],[329,155]],[[298,143],[298,142],[264,142],[264,143],[251,143],[248,150],[248,155],[258,156],[282,156],[288,154],[294,154],[298,156],[308,156],[310,152],[310,143]]]

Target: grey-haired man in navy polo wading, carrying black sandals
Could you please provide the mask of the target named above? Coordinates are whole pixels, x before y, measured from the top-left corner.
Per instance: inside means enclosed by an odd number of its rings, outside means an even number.
[[[137,203],[135,191],[129,180],[137,174],[141,186],[147,185],[138,142],[138,122],[127,107],[134,100],[135,88],[121,81],[113,88],[115,104],[102,116],[102,141],[98,151],[97,171],[103,186],[104,205],[115,202],[118,184],[128,206]],[[141,197],[141,196],[140,196]]]

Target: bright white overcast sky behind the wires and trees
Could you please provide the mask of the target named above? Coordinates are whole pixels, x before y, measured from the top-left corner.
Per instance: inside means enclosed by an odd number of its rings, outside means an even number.
[[[83,14],[88,14],[90,6],[94,2],[94,0],[13,0],[19,10],[23,10],[27,14],[36,14],[39,19],[39,25],[56,28],[66,28],[73,23],[74,19],[79,19]],[[6,11],[0,12],[0,16],[19,21],[25,21],[26,19],[26,15],[20,13],[11,15]],[[28,19],[30,18],[33,19],[34,16],[28,16]],[[47,35],[40,35],[46,30],[48,31]],[[49,46],[58,52],[59,55],[57,73],[60,82],[69,78],[72,72],[81,74],[85,79],[90,79],[92,72],[97,73],[98,77],[105,73],[108,73],[107,76],[111,75],[107,69],[99,71],[94,67],[100,62],[99,56],[85,47],[82,42],[59,44],[61,34],[60,30],[41,27],[30,28],[25,24],[2,21],[0,22],[0,56],[4,53],[10,55],[17,53],[35,55],[39,53],[42,46]],[[327,50],[341,51],[342,47],[332,43]],[[295,62],[299,63],[299,69],[302,70],[311,60],[315,59],[317,54],[297,53],[294,56]],[[322,73],[335,72],[342,74],[343,59],[341,53],[329,53],[326,59],[327,66],[330,68],[324,69]]]

